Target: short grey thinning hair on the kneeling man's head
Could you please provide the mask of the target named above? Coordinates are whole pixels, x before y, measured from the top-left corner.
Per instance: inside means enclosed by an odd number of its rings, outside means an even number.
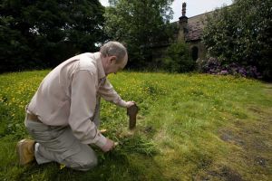
[[[119,42],[113,41],[103,44],[102,47],[100,48],[100,52],[104,57],[116,56],[117,63],[120,63],[124,59],[125,55],[128,53],[124,45],[122,45]]]

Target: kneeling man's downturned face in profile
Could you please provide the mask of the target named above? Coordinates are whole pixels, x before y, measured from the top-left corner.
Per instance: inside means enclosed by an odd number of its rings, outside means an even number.
[[[116,73],[117,71],[121,71],[128,62],[128,55],[124,57],[124,59],[120,63],[116,63],[115,56],[107,57],[106,69],[105,74],[109,75],[111,73]]]

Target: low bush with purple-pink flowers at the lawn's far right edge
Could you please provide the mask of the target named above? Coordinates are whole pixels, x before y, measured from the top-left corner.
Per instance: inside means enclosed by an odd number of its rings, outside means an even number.
[[[256,66],[239,65],[238,63],[231,62],[224,64],[217,58],[209,57],[208,60],[197,60],[198,70],[200,72],[219,74],[219,75],[238,75],[242,77],[252,77],[260,79],[261,75],[257,71]]]

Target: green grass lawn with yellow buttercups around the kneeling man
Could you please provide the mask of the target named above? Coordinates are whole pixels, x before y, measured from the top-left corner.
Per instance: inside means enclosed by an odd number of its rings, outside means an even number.
[[[134,135],[126,110],[102,101],[102,129],[121,144],[96,150],[88,172],[56,163],[17,164],[29,137],[24,106],[48,71],[0,75],[0,180],[269,180],[272,85],[232,76],[121,72],[109,78],[141,111]]]

